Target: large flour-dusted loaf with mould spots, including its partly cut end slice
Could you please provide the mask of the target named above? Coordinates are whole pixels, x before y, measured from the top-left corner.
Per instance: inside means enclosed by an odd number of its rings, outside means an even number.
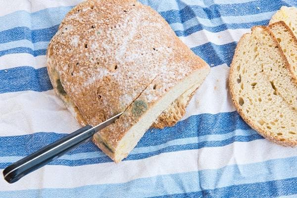
[[[47,58],[54,90],[81,124],[96,125],[124,111],[93,137],[115,162],[165,109],[184,109],[179,104],[209,73],[168,23],[136,0],[78,4],[50,41]]]

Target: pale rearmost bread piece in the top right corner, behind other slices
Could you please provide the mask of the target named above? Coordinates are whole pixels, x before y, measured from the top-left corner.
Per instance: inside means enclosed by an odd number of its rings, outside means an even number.
[[[297,8],[282,6],[270,19],[269,24],[284,21],[297,37]]]

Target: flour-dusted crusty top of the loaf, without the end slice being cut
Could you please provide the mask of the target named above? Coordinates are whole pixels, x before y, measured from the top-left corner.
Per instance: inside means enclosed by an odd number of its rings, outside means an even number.
[[[163,80],[148,102],[205,66],[157,12],[136,0],[78,4],[60,24],[47,57],[48,68],[93,125],[127,109],[157,76]]]

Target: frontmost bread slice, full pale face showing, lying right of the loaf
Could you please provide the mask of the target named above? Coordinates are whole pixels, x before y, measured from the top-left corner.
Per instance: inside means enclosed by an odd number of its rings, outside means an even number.
[[[236,48],[229,77],[233,103],[260,135],[297,146],[297,86],[272,32],[255,26]]]

